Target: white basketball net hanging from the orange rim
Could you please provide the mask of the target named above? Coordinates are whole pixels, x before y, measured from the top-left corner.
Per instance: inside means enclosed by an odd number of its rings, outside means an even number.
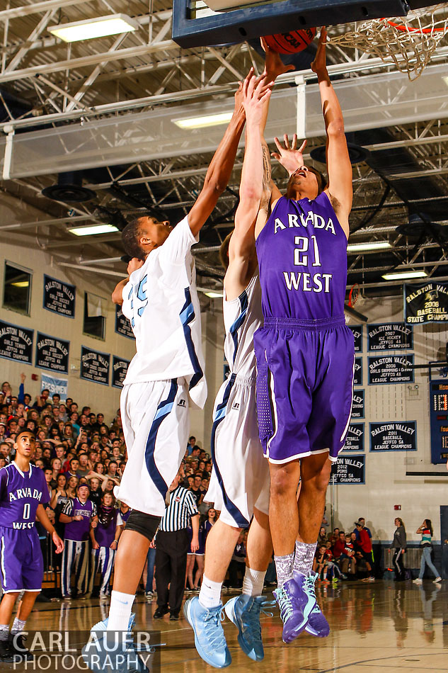
[[[410,10],[408,16],[377,18],[327,39],[330,45],[352,47],[393,63],[417,79],[448,31],[448,3]]]

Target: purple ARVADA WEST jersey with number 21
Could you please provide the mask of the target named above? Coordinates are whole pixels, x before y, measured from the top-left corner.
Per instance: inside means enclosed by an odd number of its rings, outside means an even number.
[[[279,198],[256,247],[265,318],[343,314],[347,237],[325,192],[314,200]]]

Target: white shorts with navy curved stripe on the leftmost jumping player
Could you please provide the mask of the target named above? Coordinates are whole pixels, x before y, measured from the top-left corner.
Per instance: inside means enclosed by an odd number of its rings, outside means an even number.
[[[165,513],[165,496],[185,454],[190,431],[184,378],[130,383],[120,409],[127,464],[117,499],[154,516]]]

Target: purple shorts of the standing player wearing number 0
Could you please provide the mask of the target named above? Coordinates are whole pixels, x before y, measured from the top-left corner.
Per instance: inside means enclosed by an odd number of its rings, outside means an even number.
[[[11,592],[40,592],[44,576],[44,562],[38,531],[16,531],[0,526],[1,588]]]

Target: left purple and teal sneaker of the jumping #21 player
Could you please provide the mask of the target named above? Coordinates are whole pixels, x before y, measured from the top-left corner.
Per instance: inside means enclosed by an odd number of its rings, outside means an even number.
[[[314,592],[316,577],[314,573],[310,573],[308,577],[297,575],[296,579],[288,579],[281,589],[274,592],[283,622],[284,643],[291,643],[297,638],[308,622],[309,615],[316,605]]]

